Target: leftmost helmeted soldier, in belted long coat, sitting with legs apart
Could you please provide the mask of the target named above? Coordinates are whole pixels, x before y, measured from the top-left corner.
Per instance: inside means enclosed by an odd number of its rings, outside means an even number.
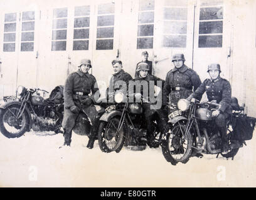
[[[64,144],[70,146],[72,129],[75,126],[75,121],[79,112],[82,109],[86,109],[97,101],[95,93],[99,91],[97,81],[92,74],[88,73],[88,70],[92,68],[90,59],[82,59],[78,66],[78,71],[70,74],[65,82],[64,86],[64,117],[62,126],[64,129]],[[92,95],[88,96],[92,91]],[[94,107],[94,106],[93,106]],[[93,112],[92,112],[93,113]],[[94,112],[94,114],[97,111]],[[88,116],[90,118],[90,116]],[[87,148],[92,149],[95,141],[95,117],[90,118],[92,122],[92,128],[90,129],[89,141]]]

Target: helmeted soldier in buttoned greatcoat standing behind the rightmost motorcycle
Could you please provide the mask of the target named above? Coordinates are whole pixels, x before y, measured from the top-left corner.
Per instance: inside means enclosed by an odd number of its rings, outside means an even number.
[[[188,96],[200,86],[201,80],[193,69],[188,68],[184,64],[184,54],[174,54],[172,62],[174,68],[166,75],[164,83],[164,99],[163,104],[168,105],[168,98],[171,104],[176,105],[181,98]]]

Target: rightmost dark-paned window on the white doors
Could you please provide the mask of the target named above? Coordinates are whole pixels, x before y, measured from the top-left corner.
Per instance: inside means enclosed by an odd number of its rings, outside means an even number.
[[[198,47],[222,47],[223,1],[201,0]]]

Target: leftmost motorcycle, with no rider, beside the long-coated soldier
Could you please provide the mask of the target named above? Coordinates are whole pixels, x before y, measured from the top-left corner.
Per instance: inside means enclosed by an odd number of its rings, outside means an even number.
[[[57,86],[44,99],[40,88],[19,86],[15,100],[0,105],[0,131],[7,138],[19,138],[26,131],[55,131],[61,133],[63,119],[63,86]]]

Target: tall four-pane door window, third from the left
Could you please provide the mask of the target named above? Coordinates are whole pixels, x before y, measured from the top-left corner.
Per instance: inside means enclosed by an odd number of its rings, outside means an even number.
[[[51,51],[66,51],[67,17],[67,8],[58,8],[53,10],[53,32]]]

